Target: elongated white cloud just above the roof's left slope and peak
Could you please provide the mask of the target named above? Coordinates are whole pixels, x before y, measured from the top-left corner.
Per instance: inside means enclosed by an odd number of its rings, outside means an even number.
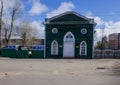
[[[57,9],[51,11],[46,16],[47,18],[50,18],[50,17],[56,16],[66,11],[72,11],[74,8],[75,6],[72,2],[62,2],[61,5]]]

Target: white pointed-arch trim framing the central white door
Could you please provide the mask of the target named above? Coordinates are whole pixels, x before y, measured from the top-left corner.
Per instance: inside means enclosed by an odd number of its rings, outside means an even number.
[[[66,43],[66,36],[68,35],[68,34],[71,34],[72,35],[72,37],[73,37],[73,45],[74,45],[74,48],[73,48],[73,53],[74,53],[74,55],[73,56],[65,56],[64,54],[65,54],[65,43]],[[69,41],[68,41],[69,42]],[[75,37],[74,37],[74,35],[73,35],[73,33],[72,32],[67,32],[66,34],[65,34],[65,36],[64,36],[64,38],[63,38],[63,57],[74,57],[75,56]]]

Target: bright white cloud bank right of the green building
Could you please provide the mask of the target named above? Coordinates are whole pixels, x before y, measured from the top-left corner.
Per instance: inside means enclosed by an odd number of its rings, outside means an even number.
[[[102,37],[102,29],[103,29],[103,35],[106,35],[107,37],[109,34],[112,34],[112,33],[120,33],[120,21],[116,21],[116,22],[103,21],[102,19],[97,21],[95,17],[95,22],[97,22],[98,24],[95,29],[97,31],[98,40],[100,39],[100,37]]]

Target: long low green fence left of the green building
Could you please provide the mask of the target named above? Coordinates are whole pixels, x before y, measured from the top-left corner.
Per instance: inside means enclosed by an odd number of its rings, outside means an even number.
[[[9,57],[9,58],[37,58],[37,59],[44,58],[43,50],[32,50],[32,54],[29,55],[27,50],[16,51],[12,49],[2,49],[1,54],[2,57]]]

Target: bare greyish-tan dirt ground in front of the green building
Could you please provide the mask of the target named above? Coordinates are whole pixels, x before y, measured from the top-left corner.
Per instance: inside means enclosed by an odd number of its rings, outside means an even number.
[[[120,60],[0,58],[0,85],[120,85],[116,63]]]

